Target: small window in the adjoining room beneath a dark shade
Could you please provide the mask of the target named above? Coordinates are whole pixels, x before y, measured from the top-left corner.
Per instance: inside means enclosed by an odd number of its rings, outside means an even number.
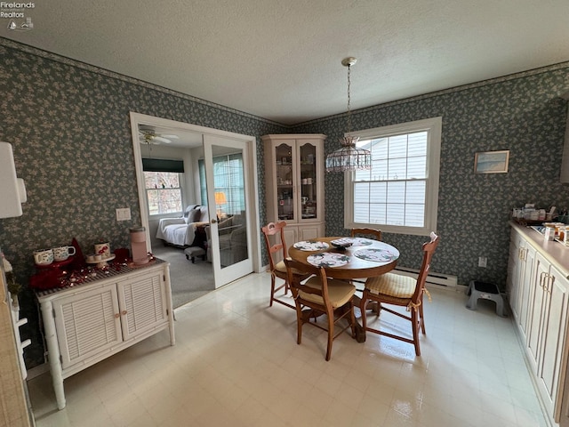
[[[180,173],[144,171],[148,214],[181,212]]]

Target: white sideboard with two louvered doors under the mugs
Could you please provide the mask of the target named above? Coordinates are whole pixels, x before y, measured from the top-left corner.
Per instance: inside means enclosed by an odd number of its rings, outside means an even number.
[[[169,265],[110,266],[80,285],[36,293],[58,408],[70,375],[164,329],[174,345]]]

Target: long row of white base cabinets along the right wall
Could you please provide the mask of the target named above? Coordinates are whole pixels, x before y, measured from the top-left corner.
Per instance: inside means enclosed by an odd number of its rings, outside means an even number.
[[[568,425],[569,247],[511,223],[509,305],[541,406],[552,425]]]

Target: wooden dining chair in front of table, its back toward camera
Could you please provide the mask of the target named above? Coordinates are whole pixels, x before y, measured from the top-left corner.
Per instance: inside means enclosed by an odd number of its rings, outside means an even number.
[[[285,259],[284,264],[296,305],[296,342],[300,344],[302,341],[302,326],[305,323],[327,331],[326,361],[328,361],[332,357],[332,342],[337,336],[351,328],[352,338],[356,337],[353,302],[356,287],[343,280],[327,278],[325,269],[322,267],[292,259]],[[298,272],[308,274],[310,277],[302,280]],[[326,315],[326,327],[317,323],[317,317],[322,314]],[[314,318],[314,321],[310,321],[310,318]],[[336,330],[334,326],[338,325],[343,318],[348,320],[348,325]]]

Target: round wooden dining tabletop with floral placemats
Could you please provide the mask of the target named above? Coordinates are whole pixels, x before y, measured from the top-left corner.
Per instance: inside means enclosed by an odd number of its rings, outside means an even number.
[[[353,244],[345,249],[339,249],[331,243],[335,240],[348,240],[353,242]],[[327,247],[309,250],[322,246]],[[304,262],[306,264],[317,262],[314,260],[315,257],[309,259],[310,255],[324,253],[341,254],[349,257],[349,261],[342,265],[324,265],[326,276],[329,278],[354,279],[381,276],[381,274],[385,274],[395,269],[397,266],[397,260],[399,259],[399,251],[395,246],[370,238],[314,238],[307,240],[306,242],[297,242],[288,249],[288,256],[290,256],[294,261]],[[372,255],[377,253],[382,256],[365,256],[370,253]]]

